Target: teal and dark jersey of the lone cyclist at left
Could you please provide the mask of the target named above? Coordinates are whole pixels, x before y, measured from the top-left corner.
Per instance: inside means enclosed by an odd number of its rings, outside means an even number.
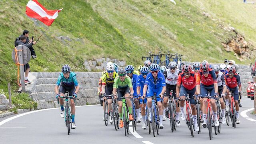
[[[78,82],[76,80],[76,74],[74,72],[70,72],[70,75],[68,78],[65,78],[63,73],[60,73],[60,76],[58,78],[58,81],[56,82],[57,86],[60,86],[60,82],[62,82],[62,84],[66,85],[66,86],[78,86]]]

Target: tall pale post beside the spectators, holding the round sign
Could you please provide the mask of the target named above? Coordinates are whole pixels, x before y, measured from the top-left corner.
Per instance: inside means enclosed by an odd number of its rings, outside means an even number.
[[[18,57],[19,57],[19,63],[20,64],[24,64],[23,63],[23,50],[22,50],[22,45],[20,44],[18,46]],[[21,51],[20,51],[21,50]],[[20,65],[20,83],[21,83],[21,88],[22,88],[22,92],[26,92],[25,89],[25,78],[24,78],[24,66]]]

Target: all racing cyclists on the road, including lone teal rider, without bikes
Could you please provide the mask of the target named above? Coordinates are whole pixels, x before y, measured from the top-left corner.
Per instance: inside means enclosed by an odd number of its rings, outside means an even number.
[[[58,87],[60,89],[58,90]],[[118,112],[122,116],[122,97],[125,97],[129,112],[128,119],[134,120],[132,115],[132,102],[130,98],[134,97],[136,108],[136,121],[142,122],[142,129],[146,129],[146,107],[148,108],[148,120],[152,121],[152,96],[159,96],[156,98],[156,105],[158,106],[159,114],[159,128],[163,129],[163,121],[166,120],[166,112],[168,113],[168,97],[171,93],[176,104],[176,126],[180,126],[180,117],[185,120],[186,110],[184,99],[188,96],[191,98],[190,106],[192,109],[192,117],[194,119],[194,130],[199,131],[197,124],[197,109],[196,99],[200,101],[200,110],[202,112],[202,126],[206,127],[206,113],[207,113],[207,97],[210,97],[210,104],[214,115],[214,126],[219,126],[217,117],[216,98],[220,97],[220,105],[222,115],[225,110],[229,110],[230,96],[229,92],[234,93],[234,100],[236,104],[236,123],[239,124],[239,104],[238,94],[241,93],[242,86],[240,76],[236,73],[234,66],[227,68],[226,64],[211,66],[206,60],[202,63],[193,62],[193,65],[185,64],[182,70],[178,70],[178,64],[174,61],[165,66],[151,63],[149,60],[144,61],[144,66],[138,66],[138,71],[134,70],[134,66],[128,65],[125,68],[119,68],[117,64],[108,62],[106,71],[102,72],[99,79],[98,95],[104,98],[104,102],[108,103],[108,110],[110,111],[110,122],[113,122],[112,112],[112,98],[109,95],[113,94],[114,98],[118,98]],[[60,100],[61,112],[60,116],[64,118],[63,98],[66,91],[70,96],[72,128],[76,128],[74,121],[75,104],[74,99],[77,97],[79,91],[76,74],[70,71],[70,66],[67,64],[62,67],[62,72],[56,82],[55,92],[56,98]],[[178,101],[177,98],[180,100]],[[181,116],[180,116],[181,115]],[[104,118],[103,118],[104,120]],[[170,120],[170,119],[169,119]],[[225,116],[222,116],[222,124],[226,123]],[[124,126],[122,118],[120,119],[120,128]]]

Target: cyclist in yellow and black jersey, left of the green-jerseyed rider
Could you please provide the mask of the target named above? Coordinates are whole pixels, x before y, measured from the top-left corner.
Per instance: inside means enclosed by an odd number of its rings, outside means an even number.
[[[110,122],[113,122],[113,112],[112,112],[112,98],[108,97],[106,98],[106,95],[112,94],[113,91],[113,84],[114,84],[114,79],[118,76],[116,72],[114,72],[114,66],[113,64],[108,64],[106,67],[107,72],[103,74],[102,76],[102,96],[104,100],[107,100],[108,102],[108,110],[110,111]],[[106,87],[106,90],[105,90]]]

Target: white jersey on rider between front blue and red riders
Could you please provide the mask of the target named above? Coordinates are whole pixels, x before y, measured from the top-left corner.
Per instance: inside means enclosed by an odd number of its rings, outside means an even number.
[[[176,69],[174,73],[171,72],[170,68],[166,69],[164,71],[164,77],[165,77],[165,82],[166,84],[170,85],[176,85],[178,76],[181,73],[181,70]]]

